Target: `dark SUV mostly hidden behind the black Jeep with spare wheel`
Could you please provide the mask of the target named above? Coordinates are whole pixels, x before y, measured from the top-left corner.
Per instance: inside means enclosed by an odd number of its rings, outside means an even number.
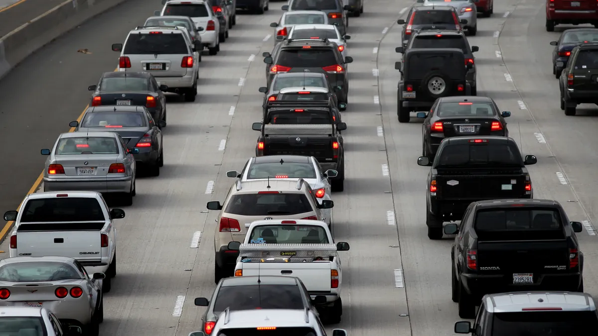
[[[471,95],[477,96],[474,53],[479,51],[480,48],[477,45],[470,47],[462,30],[422,30],[411,36],[406,48],[396,47],[395,51],[403,53],[409,49],[428,48],[456,48],[462,50],[465,54],[465,64],[471,64],[471,69],[467,71],[467,83],[471,85]]]

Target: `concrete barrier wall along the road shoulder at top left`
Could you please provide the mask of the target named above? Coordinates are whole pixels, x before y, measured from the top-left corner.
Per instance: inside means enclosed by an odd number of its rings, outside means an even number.
[[[0,39],[0,79],[39,48],[124,1],[68,0],[3,36]]]

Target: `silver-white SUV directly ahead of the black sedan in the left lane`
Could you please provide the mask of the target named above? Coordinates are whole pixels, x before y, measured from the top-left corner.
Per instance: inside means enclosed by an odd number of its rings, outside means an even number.
[[[197,96],[201,48],[186,29],[174,26],[140,26],[129,32],[124,46],[112,44],[113,51],[120,51],[118,71],[149,72],[169,92],[184,94],[187,102]]]

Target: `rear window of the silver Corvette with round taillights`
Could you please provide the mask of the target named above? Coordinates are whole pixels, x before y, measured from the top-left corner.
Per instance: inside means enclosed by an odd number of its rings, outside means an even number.
[[[0,267],[0,281],[38,282],[66,279],[81,279],[81,275],[64,262],[13,262]]]

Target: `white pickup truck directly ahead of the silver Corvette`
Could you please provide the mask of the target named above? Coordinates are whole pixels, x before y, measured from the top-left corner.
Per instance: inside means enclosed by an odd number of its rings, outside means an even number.
[[[116,228],[121,209],[109,210],[102,194],[59,191],[29,194],[19,210],[4,213],[14,221],[10,256],[69,256],[88,274],[106,274],[102,292],[109,292],[116,275]]]

